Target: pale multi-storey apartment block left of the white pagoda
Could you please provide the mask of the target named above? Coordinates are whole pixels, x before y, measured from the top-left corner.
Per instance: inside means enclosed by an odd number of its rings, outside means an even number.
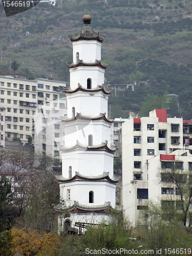
[[[5,108],[5,137],[12,140],[16,136],[26,143],[31,135],[38,146],[35,148],[37,152],[42,152],[41,149],[45,148],[42,144],[46,144],[50,149],[50,140],[44,139],[45,143],[40,144],[38,131],[39,127],[43,130],[50,124],[49,120],[58,122],[59,116],[66,114],[63,87],[66,87],[66,82],[0,76],[0,102]],[[49,128],[47,130],[49,131]],[[44,135],[46,137],[46,134]],[[50,138],[50,135],[48,137]],[[54,154],[54,150],[49,150],[48,153]]]

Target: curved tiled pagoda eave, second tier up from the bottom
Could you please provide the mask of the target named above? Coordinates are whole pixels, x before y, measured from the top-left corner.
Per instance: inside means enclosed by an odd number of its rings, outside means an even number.
[[[109,177],[109,173],[107,172],[103,172],[102,175],[99,176],[84,176],[79,174],[79,172],[75,172],[75,176],[71,177],[71,178],[63,178],[62,175],[60,176],[55,176],[56,179],[60,182],[69,182],[69,181],[74,181],[74,180],[90,180],[90,181],[95,181],[95,180],[107,180],[113,183],[117,183],[118,180],[113,180]]]

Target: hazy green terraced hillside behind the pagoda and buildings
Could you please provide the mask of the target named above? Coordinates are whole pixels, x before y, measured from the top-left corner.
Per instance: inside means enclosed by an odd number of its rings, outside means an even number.
[[[109,64],[106,83],[137,80],[134,92],[117,91],[116,97],[110,97],[112,115],[138,113],[147,99],[152,102],[155,95],[163,98],[169,93],[179,96],[168,100],[171,106],[161,98],[153,107],[166,107],[169,116],[191,118],[191,10],[190,0],[109,0],[108,4],[104,0],[66,0],[62,5],[58,1],[56,7],[39,3],[6,17],[1,5],[0,74],[13,74],[11,58],[20,63],[17,72],[30,79],[69,81],[66,61],[72,61],[72,44],[68,34],[76,33],[83,26],[82,16],[89,13],[92,28],[105,34],[102,61]]]

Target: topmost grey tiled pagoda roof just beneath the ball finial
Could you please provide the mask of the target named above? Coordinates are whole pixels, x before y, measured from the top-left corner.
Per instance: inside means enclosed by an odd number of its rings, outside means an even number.
[[[95,32],[89,26],[84,26],[80,31],[78,31],[74,35],[69,34],[69,38],[72,42],[79,41],[79,40],[96,40],[96,41],[102,42],[104,37],[105,37],[105,34],[101,36],[99,35],[99,32]]]

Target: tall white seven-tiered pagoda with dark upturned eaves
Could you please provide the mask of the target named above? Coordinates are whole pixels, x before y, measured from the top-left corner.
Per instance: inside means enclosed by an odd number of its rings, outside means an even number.
[[[90,15],[83,16],[84,27],[69,37],[73,44],[70,88],[64,89],[68,116],[63,117],[65,145],[60,146],[62,176],[57,176],[60,196],[67,211],[60,216],[65,229],[86,227],[107,221],[115,207],[117,180],[113,179],[111,125],[108,117],[110,90],[104,87],[106,64],[101,62],[104,35],[91,27]],[[67,212],[67,214],[66,214]]]

